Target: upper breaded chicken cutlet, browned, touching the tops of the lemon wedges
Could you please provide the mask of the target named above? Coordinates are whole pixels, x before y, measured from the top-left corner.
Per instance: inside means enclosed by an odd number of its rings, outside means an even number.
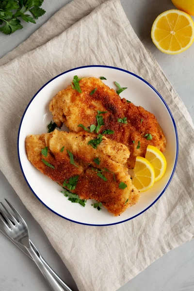
[[[154,114],[128,103],[125,98],[121,99],[100,79],[82,78],[79,85],[81,93],[70,85],[51,100],[49,110],[58,127],[65,123],[71,131],[80,132],[84,129],[78,127],[79,124],[86,128],[97,125],[97,111],[107,112],[102,114],[104,125],[99,133],[112,129],[114,133],[106,137],[129,148],[129,168],[134,167],[137,156],[145,157],[148,145],[156,146],[162,152],[165,150],[166,139]],[[94,94],[91,95],[92,91]],[[121,119],[127,123],[122,123]]]

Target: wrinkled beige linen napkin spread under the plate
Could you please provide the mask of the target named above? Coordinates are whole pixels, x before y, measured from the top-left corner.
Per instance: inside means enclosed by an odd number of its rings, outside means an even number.
[[[5,65],[0,66],[0,170],[42,226],[80,291],[115,291],[193,238],[193,123],[132,30],[119,0],[71,2],[1,64]],[[19,122],[36,91],[65,70],[99,64],[130,70],[150,82],[169,105],[179,135],[177,170],[158,202],[131,221],[105,227],[77,225],[46,209],[28,189],[16,152]]]

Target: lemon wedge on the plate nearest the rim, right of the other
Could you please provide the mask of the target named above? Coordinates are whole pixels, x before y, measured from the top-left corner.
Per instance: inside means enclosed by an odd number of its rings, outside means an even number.
[[[162,152],[155,146],[147,146],[146,160],[154,168],[155,182],[160,180],[166,171],[166,159]]]

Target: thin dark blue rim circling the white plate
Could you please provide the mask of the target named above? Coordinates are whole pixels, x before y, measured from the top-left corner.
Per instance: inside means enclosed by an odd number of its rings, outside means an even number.
[[[78,69],[82,69],[82,68],[89,68],[89,67],[103,67],[103,68],[111,68],[111,69],[115,69],[115,70],[119,70],[119,71],[123,71],[125,73],[128,73],[138,79],[140,79],[141,81],[145,82],[150,88],[152,88],[154,90],[154,92],[156,92],[156,94],[161,98],[162,102],[164,103],[166,109],[168,110],[168,113],[170,114],[171,116],[171,119],[172,119],[172,122],[173,122],[173,125],[174,125],[174,129],[175,129],[175,134],[176,134],[176,142],[177,142],[177,153],[176,153],[176,160],[175,160],[175,165],[174,165],[174,168],[173,168],[173,171],[172,171],[172,174],[171,174],[171,177],[170,179],[168,180],[168,183],[166,184],[165,188],[163,189],[162,193],[156,198],[156,200],[154,202],[152,202],[152,204],[150,204],[145,210],[142,210],[140,213],[128,218],[128,219],[125,219],[123,221],[119,221],[119,222],[115,222],[115,223],[111,223],[111,224],[103,224],[103,225],[96,225],[96,224],[88,224],[88,223],[82,223],[82,222],[78,222],[78,221],[75,221],[75,220],[72,220],[72,219],[69,219],[57,212],[55,212],[54,210],[52,210],[51,208],[49,208],[36,194],[35,192],[32,190],[25,174],[24,174],[24,171],[23,171],[23,168],[22,168],[22,165],[21,165],[21,161],[20,161],[20,156],[19,156],[19,134],[20,134],[20,129],[21,129],[21,125],[22,125],[22,121],[23,121],[23,118],[26,114],[26,111],[28,110],[28,107],[30,106],[32,100],[36,97],[36,95],[45,87],[47,86],[47,84],[49,84],[51,81],[53,81],[54,79],[58,78],[59,76],[61,75],[64,75],[68,72],[71,72],[71,71],[74,71],[74,70],[78,70]],[[71,222],[74,222],[74,223],[77,223],[77,224],[81,224],[81,225],[85,225],[85,226],[113,226],[113,225],[117,225],[117,224],[120,224],[120,223],[124,223],[126,221],[129,221],[137,216],[139,216],[140,214],[144,213],[146,210],[148,210],[150,207],[152,207],[157,201],[158,199],[162,196],[162,194],[166,191],[168,185],[170,184],[172,178],[173,178],[173,175],[175,173],[175,169],[176,169],[176,166],[177,166],[177,162],[178,162],[178,132],[177,132],[177,127],[176,127],[176,123],[175,123],[175,120],[174,120],[174,117],[168,107],[168,105],[166,104],[165,100],[163,99],[163,97],[160,95],[160,93],[150,84],[148,83],[146,80],[144,80],[143,78],[139,77],[138,75],[132,73],[132,72],[129,72],[127,70],[124,70],[124,69],[121,69],[121,68],[117,68],[117,67],[113,67],[113,66],[108,66],[108,65],[84,65],[84,66],[80,66],[80,67],[77,67],[77,68],[73,68],[73,69],[70,69],[68,71],[65,71],[57,76],[55,76],[54,78],[52,78],[51,80],[49,80],[46,84],[44,84],[37,92],[36,94],[32,97],[32,99],[30,100],[29,104],[27,105],[23,115],[22,115],[22,118],[21,118],[21,121],[20,121],[20,125],[19,125],[19,130],[18,130],[18,135],[17,135],[17,156],[18,156],[18,160],[19,160],[19,165],[20,165],[20,168],[21,168],[21,172],[24,176],[24,179],[26,181],[26,183],[28,184],[29,188],[31,189],[32,193],[36,196],[36,198],[47,208],[49,209],[50,211],[52,211],[53,213],[57,214],[58,216],[62,217],[62,218],[65,218],[66,220],[68,221],[71,221]]]

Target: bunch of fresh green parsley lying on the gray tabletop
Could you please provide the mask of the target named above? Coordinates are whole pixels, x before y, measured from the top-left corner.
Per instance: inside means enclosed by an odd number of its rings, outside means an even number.
[[[22,29],[20,19],[36,23],[34,19],[44,15],[46,11],[40,6],[44,0],[1,0],[0,1],[0,31],[11,34]],[[30,14],[26,14],[30,12]]]

